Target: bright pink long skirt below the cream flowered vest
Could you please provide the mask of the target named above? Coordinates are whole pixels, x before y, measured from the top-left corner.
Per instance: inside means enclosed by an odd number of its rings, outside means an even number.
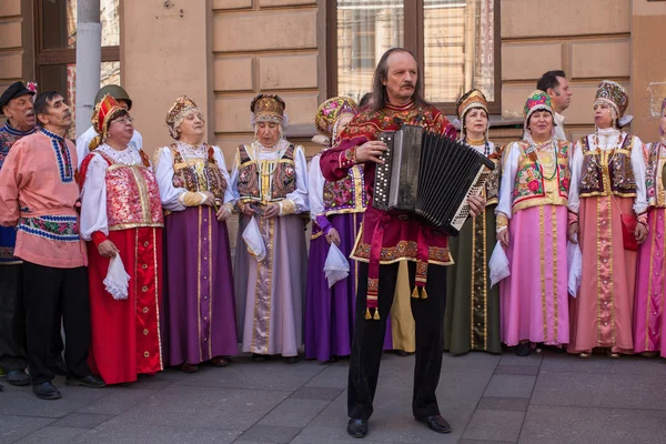
[[[506,250],[511,275],[500,286],[506,345],[568,343],[566,228],[563,205],[533,206],[513,215]]]

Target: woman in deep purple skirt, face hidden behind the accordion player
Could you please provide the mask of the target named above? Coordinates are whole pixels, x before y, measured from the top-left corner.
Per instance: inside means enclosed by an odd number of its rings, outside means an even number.
[[[336,97],[326,100],[315,115],[320,134],[312,140],[323,144],[324,149],[334,147],[356,112],[353,99]],[[349,258],[367,198],[363,188],[363,165],[351,168],[341,181],[329,182],[322,175],[319,158],[320,154],[310,162],[307,186],[313,225],[307,259],[305,357],[326,362],[351,353],[357,265],[347,259],[349,276],[329,287],[324,264],[332,243]],[[392,349],[391,344],[391,330],[387,327],[384,349]]]

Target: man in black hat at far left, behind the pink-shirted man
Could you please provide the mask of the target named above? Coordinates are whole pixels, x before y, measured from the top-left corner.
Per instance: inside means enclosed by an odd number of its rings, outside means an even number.
[[[0,169],[19,139],[34,132],[34,91],[23,82],[12,83],[0,97],[0,111],[7,118],[0,128]],[[17,231],[0,226],[0,367],[12,385],[30,384],[26,373],[26,316],[21,291],[22,261],[13,255]]]

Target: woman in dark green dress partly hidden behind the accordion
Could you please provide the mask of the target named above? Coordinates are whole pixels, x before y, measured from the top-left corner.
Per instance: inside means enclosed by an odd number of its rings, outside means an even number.
[[[461,139],[495,163],[484,189],[486,209],[470,218],[457,238],[448,239],[455,265],[446,276],[444,350],[454,355],[473,350],[501,353],[500,290],[491,287],[488,261],[496,243],[495,214],[500,186],[501,148],[488,141],[488,110],[484,94],[472,90],[456,103]]]

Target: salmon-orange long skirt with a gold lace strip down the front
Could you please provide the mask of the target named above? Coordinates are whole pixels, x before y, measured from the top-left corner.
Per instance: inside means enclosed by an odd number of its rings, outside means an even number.
[[[613,202],[615,200],[615,202]],[[571,304],[569,353],[609,347],[632,353],[632,319],[636,284],[635,251],[625,250],[619,208],[633,214],[634,199],[581,199],[578,243],[583,253],[578,296]]]

